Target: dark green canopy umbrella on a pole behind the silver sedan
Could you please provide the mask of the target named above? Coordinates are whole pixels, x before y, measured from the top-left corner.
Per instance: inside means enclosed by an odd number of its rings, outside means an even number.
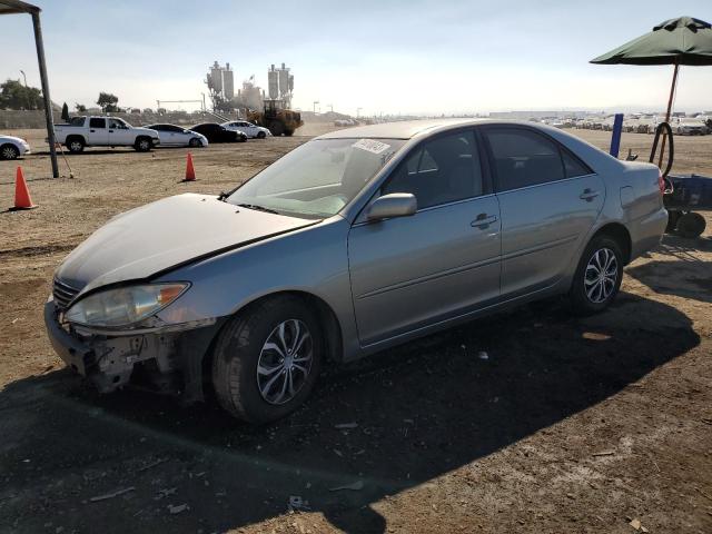
[[[670,19],[653,28],[653,31],[626,42],[591,60],[600,65],[674,65],[668,101],[670,120],[672,101],[681,65],[712,65],[712,24],[692,17]]]

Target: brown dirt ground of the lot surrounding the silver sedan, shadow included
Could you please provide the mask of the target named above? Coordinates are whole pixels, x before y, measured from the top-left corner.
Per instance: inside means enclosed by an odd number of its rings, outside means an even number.
[[[270,426],[99,396],[63,369],[41,312],[69,250],[117,212],[231,188],[319,128],[196,150],[191,184],[186,149],[92,149],[49,179],[43,132],[21,132],[39,208],[0,212],[0,532],[712,532],[709,214],[701,238],[630,265],[602,315],[548,300],[327,369]],[[712,176],[712,136],[676,140],[675,170]],[[622,154],[651,141],[624,135]],[[0,161],[0,209],[16,166]]]

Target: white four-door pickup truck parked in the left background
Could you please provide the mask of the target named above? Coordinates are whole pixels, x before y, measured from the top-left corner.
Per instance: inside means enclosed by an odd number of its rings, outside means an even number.
[[[85,147],[134,147],[147,152],[160,144],[156,130],[135,128],[117,117],[72,117],[68,125],[55,125],[55,137],[72,154]]]

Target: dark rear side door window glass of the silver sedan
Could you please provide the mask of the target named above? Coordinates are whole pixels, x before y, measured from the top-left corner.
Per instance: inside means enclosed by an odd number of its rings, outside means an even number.
[[[525,128],[507,127],[486,128],[485,132],[500,191],[567,177],[558,146],[545,136]]]

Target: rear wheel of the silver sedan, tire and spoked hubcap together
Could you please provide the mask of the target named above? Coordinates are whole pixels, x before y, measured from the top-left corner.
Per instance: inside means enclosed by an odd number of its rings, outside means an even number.
[[[601,268],[606,275],[601,278]],[[576,315],[603,312],[613,301],[623,279],[623,254],[619,243],[606,235],[594,236],[584,250],[568,290]]]

